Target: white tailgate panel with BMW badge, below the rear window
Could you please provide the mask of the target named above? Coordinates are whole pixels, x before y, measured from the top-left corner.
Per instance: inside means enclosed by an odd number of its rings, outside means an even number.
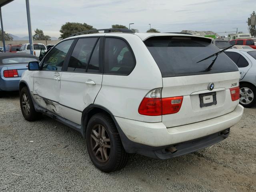
[[[163,115],[162,122],[168,128],[200,122],[232,112],[239,100],[231,100],[229,89],[239,85],[239,78],[240,74],[237,71],[162,78],[162,98],[183,96],[180,111]],[[214,83],[214,89],[210,91],[208,85],[211,82]],[[200,95],[202,97],[214,92],[216,104],[200,106]]]

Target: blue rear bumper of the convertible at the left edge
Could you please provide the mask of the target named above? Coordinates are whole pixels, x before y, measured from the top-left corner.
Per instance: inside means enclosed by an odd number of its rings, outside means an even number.
[[[1,91],[17,91],[19,90],[20,77],[2,78],[0,79]]]

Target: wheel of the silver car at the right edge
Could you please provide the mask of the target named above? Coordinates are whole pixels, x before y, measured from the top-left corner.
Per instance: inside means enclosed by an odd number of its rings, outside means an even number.
[[[256,87],[249,83],[240,84],[240,99],[239,103],[250,108],[256,104]]]

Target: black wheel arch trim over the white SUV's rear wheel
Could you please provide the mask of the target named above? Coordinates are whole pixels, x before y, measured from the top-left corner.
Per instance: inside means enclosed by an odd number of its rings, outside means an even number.
[[[97,113],[100,112],[104,112],[106,114],[108,114],[112,120],[114,121],[114,123],[117,125],[116,120],[114,119],[114,115],[112,114],[112,112],[110,112],[110,110],[108,110],[107,108],[105,108],[104,106],[101,105],[97,105],[97,104],[90,104],[89,106],[87,106],[84,111],[82,112],[82,125],[81,125],[81,129],[82,129],[82,136],[85,138],[86,135],[86,128],[87,128],[87,124],[90,120],[90,118]]]

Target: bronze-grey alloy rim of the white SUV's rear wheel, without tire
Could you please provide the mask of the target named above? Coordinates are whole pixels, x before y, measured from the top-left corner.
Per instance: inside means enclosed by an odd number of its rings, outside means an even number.
[[[96,124],[92,128],[90,142],[92,152],[99,162],[107,162],[110,157],[110,138],[106,128],[101,124]]]

